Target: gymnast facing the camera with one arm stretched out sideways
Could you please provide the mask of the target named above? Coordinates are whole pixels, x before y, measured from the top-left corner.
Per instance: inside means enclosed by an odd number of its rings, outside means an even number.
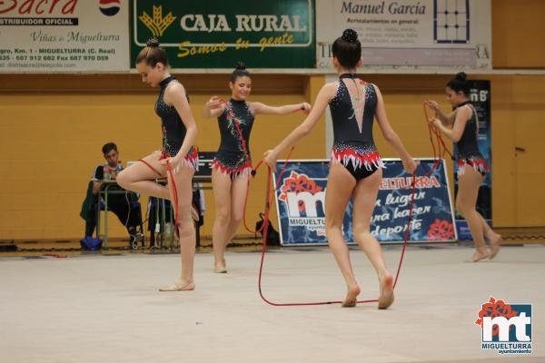
[[[246,102],[252,91],[252,77],[239,63],[229,83],[232,95],[228,102],[213,96],[204,105],[204,118],[217,117],[222,141],[213,160],[212,184],[216,216],[213,221],[214,271],[225,273],[225,247],[243,220],[244,201],[252,172],[250,133],[257,114],[282,115],[302,111],[309,103],[279,107]],[[242,134],[241,134],[242,133]]]

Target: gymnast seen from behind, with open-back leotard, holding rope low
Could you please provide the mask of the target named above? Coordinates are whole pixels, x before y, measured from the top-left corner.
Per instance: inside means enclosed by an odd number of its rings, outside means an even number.
[[[343,307],[356,305],[360,287],[352,271],[348,247],[342,235],[344,212],[352,198],[352,226],[354,239],[365,251],[380,281],[379,309],[393,302],[393,277],[386,270],[381,245],[372,236],[370,224],[377,193],[381,184],[381,157],[372,139],[372,121],[377,119],[381,132],[401,156],[408,172],[416,170],[414,162],[397,134],[391,129],[379,88],[363,82],[355,74],[362,64],[362,44],[358,34],[347,29],[332,44],[333,65],[339,81],[325,84],[316,97],[312,112],[274,150],[265,152],[265,159],[274,169],[279,154],[312,131],[330,105],[334,142],[330,174],[325,193],[325,224],[330,248],[346,281],[347,294]]]

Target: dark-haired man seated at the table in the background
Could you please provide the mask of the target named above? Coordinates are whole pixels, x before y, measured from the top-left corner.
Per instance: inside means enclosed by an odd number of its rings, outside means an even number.
[[[96,227],[96,211],[104,201],[98,200],[98,191],[105,179],[114,180],[117,174],[123,170],[119,162],[119,152],[114,142],[108,142],[103,146],[105,164],[97,165],[94,168],[91,182],[93,182],[93,203],[90,212],[85,220],[85,236],[93,236]],[[117,187],[121,189],[121,187]],[[124,194],[108,194],[108,211],[113,211],[119,221],[126,227],[131,239],[130,247],[135,248],[135,243],[142,240],[142,233],[137,233],[136,228],[142,224],[142,212],[140,204],[137,203],[137,195],[132,191]]]

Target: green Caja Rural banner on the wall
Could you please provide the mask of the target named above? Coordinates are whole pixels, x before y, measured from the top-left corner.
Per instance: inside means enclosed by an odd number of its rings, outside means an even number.
[[[314,68],[314,0],[132,0],[131,67],[157,36],[173,68]]]

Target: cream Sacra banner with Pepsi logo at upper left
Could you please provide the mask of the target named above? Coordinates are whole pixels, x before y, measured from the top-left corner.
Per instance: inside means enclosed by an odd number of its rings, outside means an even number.
[[[128,0],[0,1],[0,72],[127,72]]]

